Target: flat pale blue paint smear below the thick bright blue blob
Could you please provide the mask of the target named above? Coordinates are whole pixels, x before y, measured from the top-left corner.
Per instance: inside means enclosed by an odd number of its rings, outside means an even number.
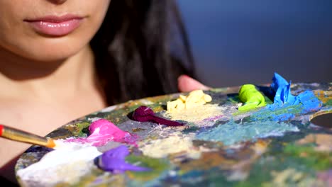
[[[197,140],[218,141],[223,145],[234,145],[236,143],[257,140],[258,138],[270,136],[282,136],[284,132],[298,132],[297,126],[274,121],[260,121],[238,124],[230,121],[216,128],[200,132]]]

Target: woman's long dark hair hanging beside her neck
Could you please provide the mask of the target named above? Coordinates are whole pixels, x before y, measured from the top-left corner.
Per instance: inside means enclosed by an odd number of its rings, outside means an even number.
[[[90,45],[109,105],[177,92],[194,60],[173,0],[111,0]]]

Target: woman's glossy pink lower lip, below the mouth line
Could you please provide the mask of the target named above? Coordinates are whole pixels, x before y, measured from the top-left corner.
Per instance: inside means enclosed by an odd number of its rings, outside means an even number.
[[[72,33],[82,23],[82,19],[75,18],[62,22],[29,21],[37,33],[49,36],[63,36]]]

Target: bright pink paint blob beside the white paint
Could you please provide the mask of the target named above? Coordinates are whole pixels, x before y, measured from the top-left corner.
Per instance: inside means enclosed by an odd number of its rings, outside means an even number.
[[[66,140],[65,142],[92,143],[93,146],[103,146],[107,142],[123,142],[136,145],[137,136],[119,129],[109,120],[96,120],[89,126],[90,135]]]

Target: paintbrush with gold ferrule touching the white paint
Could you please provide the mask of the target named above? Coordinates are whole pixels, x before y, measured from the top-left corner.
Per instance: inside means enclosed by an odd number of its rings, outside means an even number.
[[[40,145],[43,147],[55,148],[55,140],[49,137],[41,137],[30,132],[11,128],[6,125],[0,125],[0,137],[17,142],[26,142],[28,144]]]

